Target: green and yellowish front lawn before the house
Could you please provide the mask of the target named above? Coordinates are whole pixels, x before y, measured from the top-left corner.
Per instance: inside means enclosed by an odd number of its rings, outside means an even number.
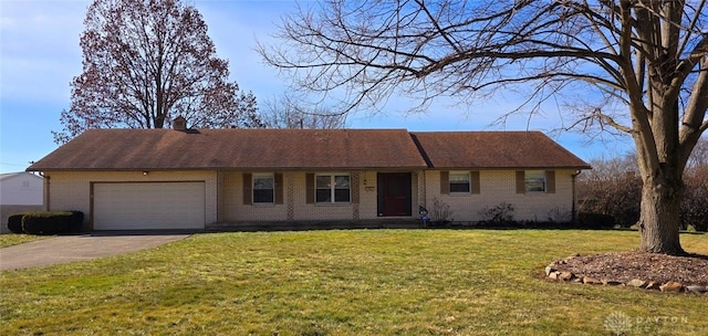
[[[708,235],[684,234],[708,254]],[[573,253],[632,231],[369,230],[197,234],[95,261],[3,272],[0,335],[708,334],[708,295],[554,283]],[[613,315],[613,316],[615,316]]]

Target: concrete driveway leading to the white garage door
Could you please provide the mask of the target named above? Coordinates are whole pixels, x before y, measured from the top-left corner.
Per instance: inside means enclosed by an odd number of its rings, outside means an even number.
[[[96,232],[59,235],[0,249],[0,271],[41,267],[155,248],[189,232]]]

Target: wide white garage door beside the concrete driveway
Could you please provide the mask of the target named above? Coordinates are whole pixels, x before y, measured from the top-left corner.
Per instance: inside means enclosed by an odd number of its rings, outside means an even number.
[[[95,183],[94,230],[204,229],[204,182]]]

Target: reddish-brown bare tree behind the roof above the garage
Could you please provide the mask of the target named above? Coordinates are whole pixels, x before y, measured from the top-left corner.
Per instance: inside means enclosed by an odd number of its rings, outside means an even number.
[[[179,0],[94,0],[81,35],[83,73],[61,114],[65,143],[87,128],[259,126],[256,97],[229,82],[207,24]]]

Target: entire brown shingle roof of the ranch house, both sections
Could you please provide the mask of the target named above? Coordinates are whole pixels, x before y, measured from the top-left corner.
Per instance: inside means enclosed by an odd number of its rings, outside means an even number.
[[[590,166],[539,132],[90,129],[29,171]]]

